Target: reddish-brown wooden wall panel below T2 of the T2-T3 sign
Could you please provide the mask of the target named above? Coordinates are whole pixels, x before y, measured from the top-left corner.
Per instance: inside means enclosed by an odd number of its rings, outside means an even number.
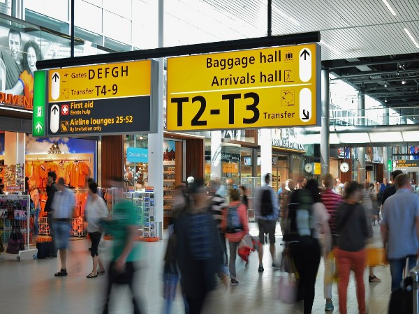
[[[204,179],[204,140],[186,140],[186,178]]]

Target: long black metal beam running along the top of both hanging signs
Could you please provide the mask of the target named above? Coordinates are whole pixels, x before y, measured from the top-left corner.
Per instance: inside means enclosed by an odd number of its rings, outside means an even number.
[[[43,60],[36,62],[36,68],[38,70],[42,70],[47,68],[61,68],[68,66],[84,66],[95,63],[112,63],[154,59],[162,57],[178,57],[191,54],[205,54],[210,52],[247,50],[261,47],[300,45],[307,43],[318,43],[319,41],[320,31],[313,31],[309,33],[296,33],[284,36],[246,38],[219,41],[216,43],[202,43],[195,45],[183,45],[177,47],[163,47],[128,52],[115,52],[112,54],[98,54],[84,57]]]

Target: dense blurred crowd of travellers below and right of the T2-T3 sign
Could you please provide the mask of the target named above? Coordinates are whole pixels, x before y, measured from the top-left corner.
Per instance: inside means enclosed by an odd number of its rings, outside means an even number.
[[[294,301],[304,302],[304,314],[311,313],[313,308],[322,258],[325,311],[335,309],[332,285],[337,278],[339,312],[347,313],[346,293],[353,270],[358,311],[367,313],[364,283],[367,266],[369,283],[380,282],[374,275],[374,266],[378,264],[367,262],[374,225],[381,226],[380,250],[386,257],[383,262],[388,260],[390,264],[392,290],[397,290],[402,281],[402,264],[406,260],[409,267],[416,264],[419,195],[407,174],[393,172],[394,184],[386,179],[382,184],[367,181],[341,184],[331,174],[325,174],[321,182],[305,179],[301,186],[290,179],[277,192],[270,186],[270,174],[264,179],[253,200],[259,237],[252,251],[255,248],[258,251],[258,272],[265,270],[263,248],[269,244],[272,267],[296,275]],[[249,237],[246,188],[230,188],[228,203],[220,190],[217,181],[210,181],[204,188],[196,180],[184,182],[177,189],[164,266],[165,313],[171,311],[177,283],[182,288],[185,313],[201,313],[207,294],[216,287],[216,278],[231,287],[239,285],[235,271],[237,254],[248,262],[240,254],[240,247]],[[286,253],[281,260],[277,260],[275,246],[278,221]],[[286,258],[291,259],[293,267],[285,267]]]

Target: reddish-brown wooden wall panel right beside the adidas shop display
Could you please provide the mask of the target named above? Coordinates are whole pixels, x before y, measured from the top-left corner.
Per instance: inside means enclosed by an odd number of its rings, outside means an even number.
[[[124,177],[124,135],[102,137],[102,187],[110,188],[109,179]]]

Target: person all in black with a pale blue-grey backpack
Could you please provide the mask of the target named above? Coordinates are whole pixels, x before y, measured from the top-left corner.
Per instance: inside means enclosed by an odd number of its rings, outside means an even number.
[[[288,209],[288,232],[284,241],[290,242],[291,256],[300,276],[297,299],[304,301],[304,314],[309,314],[313,309],[314,286],[321,257],[320,234],[324,234],[325,243],[331,243],[330,215],[321,202],[315,179],[309,179],[304,189],[291,194]],[[330,246],[323,252],[327,256]]]

